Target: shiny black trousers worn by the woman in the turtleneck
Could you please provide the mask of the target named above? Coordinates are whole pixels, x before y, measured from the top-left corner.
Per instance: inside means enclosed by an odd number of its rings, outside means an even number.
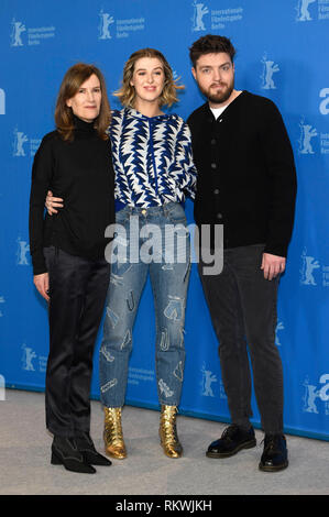
[[[92,354],[110,280],[106,260],[90,261],[51,246],[50,354],[46,371],[46,427],[73,437],[90,430]]]

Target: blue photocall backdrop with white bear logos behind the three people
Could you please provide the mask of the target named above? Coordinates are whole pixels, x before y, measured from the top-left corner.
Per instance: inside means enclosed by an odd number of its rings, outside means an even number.
[[[329,440],[329,0],[1,0],[0,3],[0,376],[44,391],[46,304],[32,283],[28,211],[33,156],[54,129],[62,78],[77,62],[106,76],[110,100],[138,48],[162,51],[186,88],[173,111],[204,102],[188,47],[207,33],[237,47],[235,86],[271,98],[286,123],[298,174],[296,223],[279,286],[276,345],[285,375],[286,432]],[[188,222],[193,204],[187,201]],[[98,349],[91,386],[99,398]],[[180,411],[228,421],[218,343],[193,265]],[[6,398],[3,387],[1,398]],[[157,408],[150,283],[134,329],[127,404]],[[260,415],[253,399],[253,422]]]

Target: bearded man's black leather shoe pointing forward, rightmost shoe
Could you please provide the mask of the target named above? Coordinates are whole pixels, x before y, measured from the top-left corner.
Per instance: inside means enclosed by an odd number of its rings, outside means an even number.
[[[283,435],[265,435],[260,470],[264,472],[282,471],[288,466],[288,463],[285,437]]]

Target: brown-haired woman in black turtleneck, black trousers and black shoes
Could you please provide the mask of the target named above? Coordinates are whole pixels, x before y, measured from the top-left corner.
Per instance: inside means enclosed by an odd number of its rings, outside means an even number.
[[[92,352],[109,286],[105,230],[114,222],[114,175],[106,133],[110,107],[98,68],[66,73],[55,109],[56,131],[35,154],[30,199],[34,284],[48,301],[46,426],[52,463],[94,473],[110,465],[90,438]],[[46,191],[66,200],[44,218]]]

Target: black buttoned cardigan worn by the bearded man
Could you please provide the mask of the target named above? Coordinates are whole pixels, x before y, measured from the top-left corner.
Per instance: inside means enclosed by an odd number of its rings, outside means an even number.
[[[197,224],[222,223],[224,248],[265,243],[266,253],[286,256],[296,172],[274,102],[242,91],[217,121],[207,102],[187,123],[198,170]]]

